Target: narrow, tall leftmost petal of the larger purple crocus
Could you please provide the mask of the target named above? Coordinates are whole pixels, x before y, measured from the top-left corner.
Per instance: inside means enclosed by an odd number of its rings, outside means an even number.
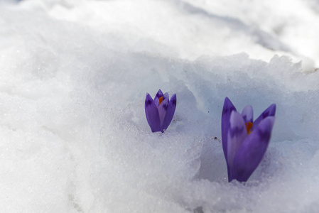
[[[228,97],[225,97],[224,107],[222,107],[222,150],[224,151],[228,174],[229,174],[229,165],[227,160],[227,134],[228,134],[228,129],[230,125],[229,118],[232,111],[236,111],[236,108],[234,107],[232,102],[228,99]]]

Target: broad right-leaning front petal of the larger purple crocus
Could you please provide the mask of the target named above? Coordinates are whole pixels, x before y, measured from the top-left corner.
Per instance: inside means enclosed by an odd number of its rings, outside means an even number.
[[[268,147],[274,121],[274,116],[266,117],[242,143],[234,158],[233,179],[247,181],[257,168]]]

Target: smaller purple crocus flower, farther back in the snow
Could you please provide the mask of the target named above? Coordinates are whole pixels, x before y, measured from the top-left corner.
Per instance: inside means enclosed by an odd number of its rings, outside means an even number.
[[[158,90],[154,99],[146,93],[145,114],[152,132],[164,132],[164,129],[168,128],[173,119],[175,108],[176,94],[173,94],[170,100],[168,93],[163,94],[161,89]]]

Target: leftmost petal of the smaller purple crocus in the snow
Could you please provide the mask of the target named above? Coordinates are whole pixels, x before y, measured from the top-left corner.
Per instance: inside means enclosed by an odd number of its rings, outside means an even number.
[[[158,109],[150,94],[146,93],[145,114],[152,132],[161,131]]]

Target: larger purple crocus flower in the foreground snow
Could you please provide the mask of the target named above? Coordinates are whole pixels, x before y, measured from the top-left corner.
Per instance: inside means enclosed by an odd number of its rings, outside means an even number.
[[[225,98],[222,109],[222,149],[224,151],[228,181],[247,181],[257,168],[270,140],[274,126],[276,104],[271,104],[253,121],[252,106],[242,114]]]

